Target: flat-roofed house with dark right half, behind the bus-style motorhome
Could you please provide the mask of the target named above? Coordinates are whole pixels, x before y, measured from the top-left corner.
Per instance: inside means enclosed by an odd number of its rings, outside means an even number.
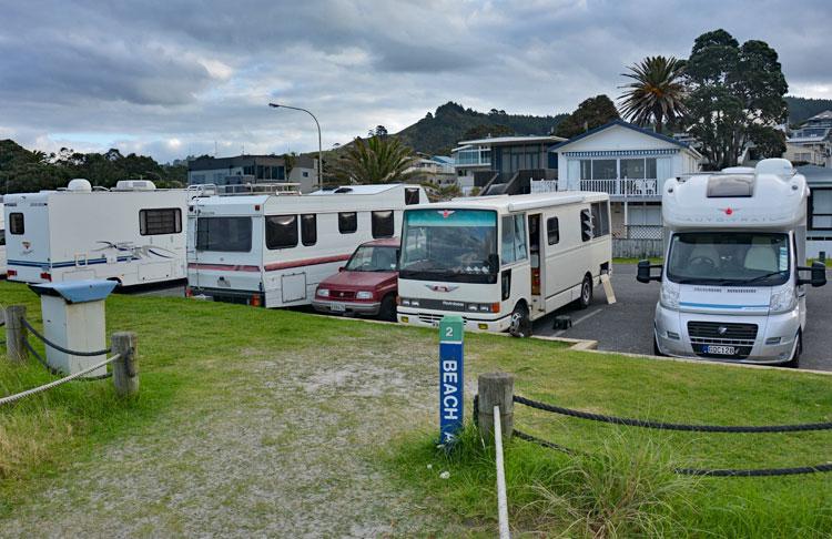
[[[566,139],[554,135],[494,136],[460,141],[451,151],[463,192],[521,194],[531,180],[556,180],[557,155],[549,146]]]

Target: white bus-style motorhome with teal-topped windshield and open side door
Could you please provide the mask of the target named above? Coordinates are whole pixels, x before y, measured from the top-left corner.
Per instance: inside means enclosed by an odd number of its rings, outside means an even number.
[[[561,192],[457,199],[405,211],[398,321],[530,334],[530,322],[589,305],[610,271],[609,195]]]

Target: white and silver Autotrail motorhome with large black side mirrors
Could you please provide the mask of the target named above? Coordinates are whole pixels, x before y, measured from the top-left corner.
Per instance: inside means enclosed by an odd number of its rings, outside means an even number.
[[[805,285],[826,282],[823,264],[803,267],[808,196],[782,159],[664,183],[666,263],[638,274],[661,282],[657,354],[798,365]]]

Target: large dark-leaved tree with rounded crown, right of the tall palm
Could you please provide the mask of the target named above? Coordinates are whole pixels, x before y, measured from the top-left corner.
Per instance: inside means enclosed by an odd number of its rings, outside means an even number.
[[[749,142],[772,151],[772,131],[789,112],[774,49],[758,40],[740,45],[721,29],[707,32],[693,43],[686,78],[689,132],[712,166],[734,166]]]

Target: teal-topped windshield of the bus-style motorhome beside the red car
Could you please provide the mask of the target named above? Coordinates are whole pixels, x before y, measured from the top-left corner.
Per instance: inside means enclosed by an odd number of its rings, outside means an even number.
[[[405,212],[400,278],[496,283],[497,213],[486,210]]]

